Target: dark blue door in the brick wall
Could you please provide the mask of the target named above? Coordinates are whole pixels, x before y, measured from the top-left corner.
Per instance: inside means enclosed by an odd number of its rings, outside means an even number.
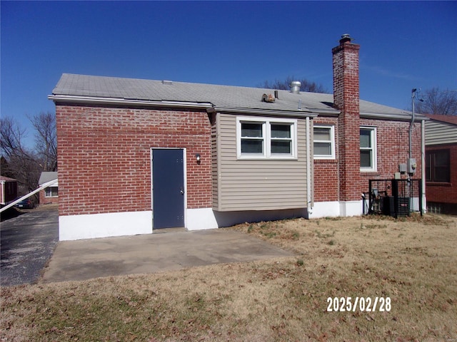
[[[154,229],[184,227],[184,152],[152,150]]]

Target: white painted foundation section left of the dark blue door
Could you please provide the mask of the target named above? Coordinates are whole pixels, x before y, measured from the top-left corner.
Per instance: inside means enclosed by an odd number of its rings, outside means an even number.
[[[59,240],[151,234],[152,211],[59,216]]]

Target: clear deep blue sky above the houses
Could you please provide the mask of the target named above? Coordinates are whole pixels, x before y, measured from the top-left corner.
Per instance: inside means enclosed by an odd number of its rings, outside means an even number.
[[[457,1],[1,1],[1,115],[54,111],[62,73],[332,91],[331,48],[360,50],[361,98],[406,109],[457,89]]]

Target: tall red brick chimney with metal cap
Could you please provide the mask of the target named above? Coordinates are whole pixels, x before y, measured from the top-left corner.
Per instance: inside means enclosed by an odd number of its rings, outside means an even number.
[[[358,44],[348,34],[341,36],[333,53],[333,103],[338,117],[339,200],[361,199],[360,107],[358,86]],[[342,213],[344,214],[344,213]]]

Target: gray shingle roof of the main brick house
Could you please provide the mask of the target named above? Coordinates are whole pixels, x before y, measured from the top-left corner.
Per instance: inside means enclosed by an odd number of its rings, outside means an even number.
[[[141,100],[174,103],[211,104],[216,108],[279,110],[303,113],[338,113],[333,108],[333,95],[324,93],[301,92],[293,94],[288,90],[278,90],[274,103],[263,102],[264,93],[273,93],[273,89],[248,88],[238,86],[220,86],[204,83],[184,83],[154,81],[136,78],[116,78],[104,76],[86,76],[64,73],[49,98],[113,98],[122,100]],[[301,108],[301,109],[299,109]],[[411,112],[360,101],[362,113],[410,117]]]

